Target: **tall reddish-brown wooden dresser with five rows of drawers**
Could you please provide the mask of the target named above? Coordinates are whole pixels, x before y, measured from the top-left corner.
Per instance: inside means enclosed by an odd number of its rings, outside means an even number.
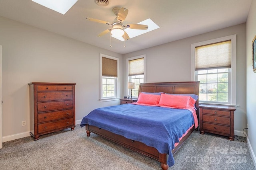
[[[75,128],[76,83],[31,82],[30,134],[34,140],[40,135]]]

